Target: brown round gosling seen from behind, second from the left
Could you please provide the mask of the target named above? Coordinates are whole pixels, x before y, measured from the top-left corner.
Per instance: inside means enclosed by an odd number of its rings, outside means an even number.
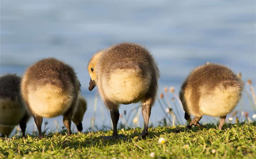
[[[39,138],[42,139],[42,118],[59,115],[63,115],[68,135],[72,134],[71,119],[79,107],[80,86],[74,69],[63,61],[47,58],[27,68],[21,81],[21,93],[34,117]]]

